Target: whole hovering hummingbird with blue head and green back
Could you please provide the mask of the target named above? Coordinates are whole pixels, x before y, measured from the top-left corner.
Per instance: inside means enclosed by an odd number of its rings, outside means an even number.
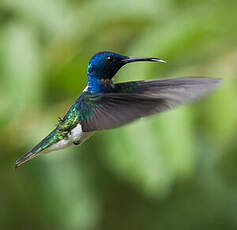
[[[15,162],[15,167],[40,153],[80,145],[96,131],[113,129],[138,118],[163,112],[204,96],[220,79],[180,77],[114,83],[121,67],[132,62],[161,62],[154,57],[130,57],[99,52],[89,61],[88,85],[48,136]]]

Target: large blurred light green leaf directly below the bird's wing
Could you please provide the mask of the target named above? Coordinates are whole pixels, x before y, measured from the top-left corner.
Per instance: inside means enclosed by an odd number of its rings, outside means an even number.
[[[167,195],[176,179],[189,177],[194,168],[195,142],[184,111],[110,131],[110,144],[103,148],[110,170],[148,196]]]

